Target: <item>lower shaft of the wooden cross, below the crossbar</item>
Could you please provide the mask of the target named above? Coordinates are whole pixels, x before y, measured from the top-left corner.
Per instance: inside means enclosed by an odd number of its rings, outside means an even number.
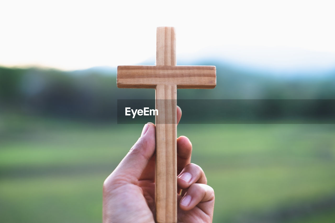
[[[155,92],[156,221],[177,222],[177,86],[157,85]]]

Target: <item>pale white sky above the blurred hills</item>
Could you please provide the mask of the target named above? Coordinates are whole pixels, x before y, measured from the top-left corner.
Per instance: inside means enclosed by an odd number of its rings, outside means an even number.
[[[335,67],[334,1],[2,1],[0,65],[61,70],[138,64],[156,27],[175,26],[178,58],[260,68]]]

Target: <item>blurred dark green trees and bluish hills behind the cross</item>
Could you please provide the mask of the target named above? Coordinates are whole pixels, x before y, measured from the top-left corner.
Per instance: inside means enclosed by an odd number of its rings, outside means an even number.
[[[178,99],[335,99],[335,70],[322,75],[278,76],[215,61],[194,65],[205,64],[216,66],[217,87],[179,89]],[[115,121],[117,99],[154,99],[154,90],[117,88],[116,68],[64,72],[0,67],[0,111]],[[285,112],[288,105],[274,106]]]

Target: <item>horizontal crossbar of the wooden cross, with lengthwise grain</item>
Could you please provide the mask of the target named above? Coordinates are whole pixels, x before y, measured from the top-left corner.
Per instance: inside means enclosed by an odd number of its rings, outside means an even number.
[[[212,89],[216,86],[215,66],[118,66],[119,88],[155,88],[157,85],[177,88]]]

